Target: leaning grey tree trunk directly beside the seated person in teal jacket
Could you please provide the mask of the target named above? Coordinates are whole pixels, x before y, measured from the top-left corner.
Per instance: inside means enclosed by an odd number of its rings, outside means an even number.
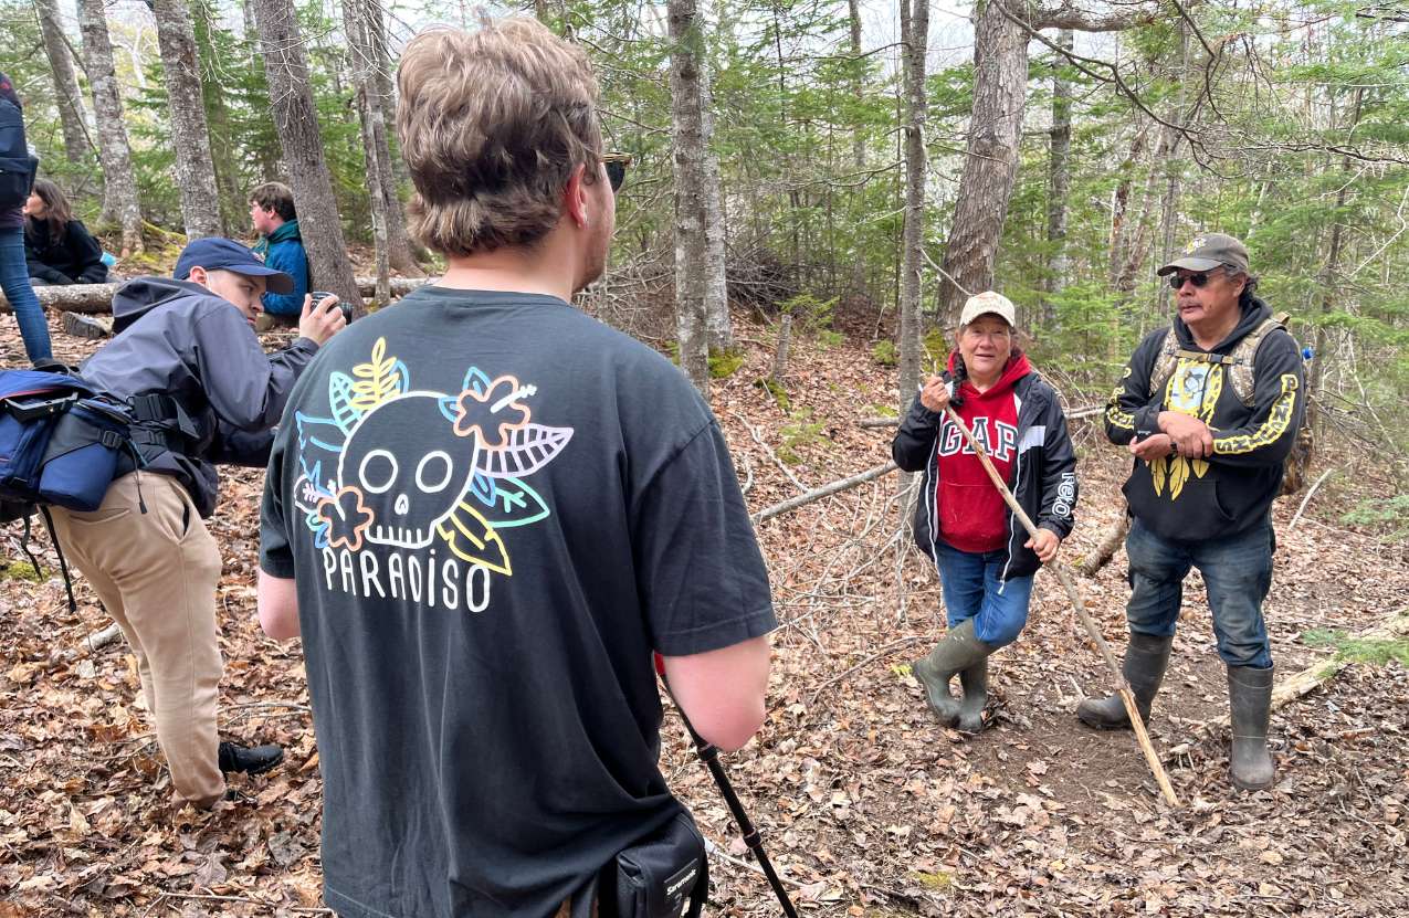
[[[309,255],[310,283],[347,303],[359,303],[352,262],[342,239],[342,221],[333,179],[323,158],[317,110],[309,86],[309,65],[293,0],[252,0],[259,24],[275,130],[289,166],[289,184],[299,208],[299,231]]]

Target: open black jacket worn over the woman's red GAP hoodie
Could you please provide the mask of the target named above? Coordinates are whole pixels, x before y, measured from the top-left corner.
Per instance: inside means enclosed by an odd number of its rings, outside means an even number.
[[[1067,417],[1057,401],[1057,391],[1037,373],[1029,373],[1013,387],[1017,410],[1017,459],[1013,462],[1009,490],[1034,524],[1061,538],[1071,534],[1076,510],[1076,453],[1067,435]],[[924,470],[924,489],[914,507],[914,542],[934,558],[937,534],[930,524],[934,513],[934,489],[938,486],[936,444],[944,417],[926,408],[919,398],[890,444],[895,463],[906,472]],[[1027,531],[1007,511],[1007,562],[1003,580],[1026,577],[1041,566],[1037,555],[1023,542]]]

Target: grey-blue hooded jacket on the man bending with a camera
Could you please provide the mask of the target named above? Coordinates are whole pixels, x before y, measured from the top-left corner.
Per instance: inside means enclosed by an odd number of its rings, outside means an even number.
[[[318,345],[299,338],[265,353],[244,314],[197,283],[137,277],[113,297],[114,338],[79,369],[118,398],[170,396],[189,415],[189,448],[151,448],[145,470],[170,474],[196,510],[216,510],[216,463],[263,466],[273,425]]]

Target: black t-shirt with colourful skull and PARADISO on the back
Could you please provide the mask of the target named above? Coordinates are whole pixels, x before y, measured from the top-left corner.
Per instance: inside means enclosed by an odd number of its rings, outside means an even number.
[[[651,652],[776,627],[709,407],[537,294],[427,287],[299,380],[261,566],[296,577],[347,917],[547,918],[678,804]]]

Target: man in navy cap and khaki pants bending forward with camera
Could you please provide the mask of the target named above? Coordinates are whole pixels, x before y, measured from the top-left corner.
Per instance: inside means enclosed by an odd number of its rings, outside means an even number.
[[[137,656],[172,787],[197,807],[224,796],[224,773],[256,774],[283,757],[279,746],[238,746],[216,732],[221,563],[204,520],[216,510],[216,465],[265,465],[294,380],[345,325],[337,297],[307,297],[299,338],[266,355],[254,331],[259,296],[292,287],[221,238],[187,245],[175,280],[125,283],[113,298],[114,338],[80,373],[132,405],[144,466],[114,480],[93,513],[52,508],[68,556]]]

